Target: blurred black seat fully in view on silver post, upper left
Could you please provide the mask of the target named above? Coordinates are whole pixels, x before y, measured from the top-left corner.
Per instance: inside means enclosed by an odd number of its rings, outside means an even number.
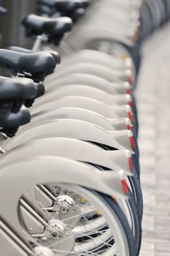
[[[68,17],[46,18],[31,14],[23,20],[23,26],[29,29],[29,34],[56,37],[72,29],[72,20]]]

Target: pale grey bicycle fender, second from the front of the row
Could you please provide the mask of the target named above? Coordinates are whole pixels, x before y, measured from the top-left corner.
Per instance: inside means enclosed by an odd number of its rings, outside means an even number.
[[[127,175],[132,175],[126,151],[105,151],[91,143],[72,138],[44,138],[13,148],[1,156],[0,168],[5,167],[9,162],[23,162],[43,155],[66,157],[116,171],[124,170]],[[129,152],[129,157],[130,155]]]

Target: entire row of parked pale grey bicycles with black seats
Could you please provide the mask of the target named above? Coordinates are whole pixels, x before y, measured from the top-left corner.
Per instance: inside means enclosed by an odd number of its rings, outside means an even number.
[[[141,4],[39,0],[33,50],[0,49],[3,256],[139,255]]]

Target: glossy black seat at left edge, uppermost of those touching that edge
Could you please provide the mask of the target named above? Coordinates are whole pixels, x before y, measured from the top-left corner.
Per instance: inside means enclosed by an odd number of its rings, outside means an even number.
[[[15,72],[46,74],[55,69],[55,60],[50,53],[18,53],[13,50],[0,49],[0,65]]]

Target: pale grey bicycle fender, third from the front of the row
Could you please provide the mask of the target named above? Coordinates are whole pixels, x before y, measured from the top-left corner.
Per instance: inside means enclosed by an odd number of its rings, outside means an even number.
[[[37,124],[36,127],[28,129],[22,134],[7,140],[3,144],[5,151],[19,146],[37,138],[65,137],[76,138],[77,140],[86,140],[94,143],[101,143],[117,149],[128,149],[133,153],[128,132],[125,131],[107,131],[94,124],[85,121],[72,119],[58,119]]]

